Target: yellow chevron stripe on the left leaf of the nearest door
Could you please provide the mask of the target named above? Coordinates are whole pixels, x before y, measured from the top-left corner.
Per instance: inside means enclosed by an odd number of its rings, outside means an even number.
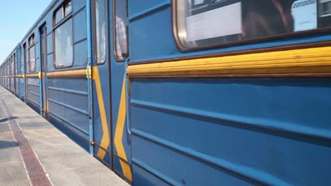
[[[95,88],[97,91],[98,105],[101,117],[101,124],[103,126],[103,138],[101,139],[100,146],[104,149],[108,149],[110,140],[109,140],[109,130],[107,117],[105,113],[105,104],[103,103],[103,90],[101,89],[100,77],[98,67],[93,67],[93,80],[95,81]],[[105,151],[103,149],[98,149],[98,157],[100,159],[105,158]]]

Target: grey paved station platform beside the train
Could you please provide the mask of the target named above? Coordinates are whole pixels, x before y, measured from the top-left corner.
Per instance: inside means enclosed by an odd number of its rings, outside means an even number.
[[[0,86],[0,185],[129,185]]]

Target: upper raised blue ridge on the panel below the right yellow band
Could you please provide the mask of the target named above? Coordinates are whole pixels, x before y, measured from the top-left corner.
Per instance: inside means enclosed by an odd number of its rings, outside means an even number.
[[[182,106],[171,106],[166,104],[157,104],[149,101],[140,101],[131,99],[131,105],[143,109],[152,109],[163,113],[173,113],[178,116],[202,118],[203,120],[213,120],[216,123],[223,125],[243,128],[252,131],[268,132],[272,135],[287,137],[289,139],[300,138],[301,141],[311,144],[320,144],[325,147],[331,147],[330,130],[315,129],[304,126],[293,125],[291,123],[280,123],[279,121],[272,122],[271,120],[258,120],[252,123],[254,118],[231,116],[223,113],[215,113],[211,111],[202,111],[199,109],[188,109]],[[279,126],[286,126],[280,128]]]

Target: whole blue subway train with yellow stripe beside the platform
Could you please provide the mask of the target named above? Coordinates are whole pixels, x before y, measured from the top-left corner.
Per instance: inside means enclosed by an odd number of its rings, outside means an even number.
[[[330,0],[54,0],[0,75],[132,185],[331,184]]]

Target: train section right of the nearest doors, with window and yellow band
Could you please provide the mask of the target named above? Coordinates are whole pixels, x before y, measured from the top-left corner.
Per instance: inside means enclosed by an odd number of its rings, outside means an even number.
[[[330,184],[327,4],[129,0],[133,184]]]

